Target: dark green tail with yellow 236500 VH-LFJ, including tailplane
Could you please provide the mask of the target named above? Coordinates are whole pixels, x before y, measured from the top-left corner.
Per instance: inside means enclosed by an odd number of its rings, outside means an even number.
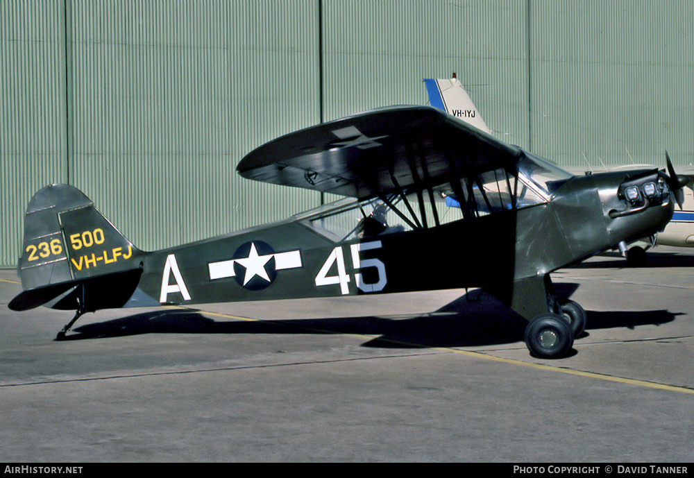
[[[17,266],[24,291],[8,307],[119,307],[137,287],[140,257],[142,252],[82,191],[69,185],[44,187],[26,209]]]

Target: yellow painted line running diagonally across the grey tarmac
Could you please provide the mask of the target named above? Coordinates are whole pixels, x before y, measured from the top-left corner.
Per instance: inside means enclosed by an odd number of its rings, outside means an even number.
[[[205,314],[205,315],[217,316],[217,317],[222,317],[222,318],[235,318],[235,319],[238,319],[241,321],[265,322],[264,319],[260,319],[260,318],[232,316],[230,314],[221,314],[220,312],[209,312],[209,311],[200,311],[200,312],[201,312],[201,314]],[[274,322],[279,323],[281,321],[274,321]],[[329,332],[329,331],[325,331],[325,332]],[[344,334],[344,335],[347,335],[347,334]],[[349,335],[363,337],[366,339],[372,338],[371,336],[365,335],[365,334],[349,334]],[[410,342],[403,342],[403,341],[391,341],[391,342],[403,343],[404,345],[415,346],[415,347],[420,347],[420,348],[429,348],[428,345],[422,345],[421,343],[410,343]],[[526,361],[516,360],[516,359],[505,359],[503,357],[495,357],[494,355],[488,355],[488,354],[484,354],[482,352],[472,352],[470,350],[460,350],[457,348],[448,348],[448,347],[432,347],[432,348],[434,350],[441,350],[442,352],[453,352],[453,353],[458,354],[458,355],[465,355],[466,357],[473,357],[476,359],[496,361],[496,362],[499,362],[501,364],[518,365],[518,366],[523,366],[523,367],[536,368],[538,370],[546,370],[546,371],[550,371],[550,372],[566,373],[567,375],[577,375],[578,377],[586,377],[586,378],[592,378],[592,379],[598,379],[598,380],[606,380],[607,382],[616,382],[619,384],[643,386],[643,387],[646,387],[648,389],[666,390],[666,391],[671,391],[671,392],[688,393],[690,395],[694,395],[693,389],[687,389],[686,387],[683,387],[683,386],[665,385],[665,384],[659,384],[656,382],[647,382],[645,380],[637,380],[637,379],[631,379],[631,378],[625,378],[625,377],[616,377],[613,375],[604,375],[602,373],[595,373],[595,372],[584,372],[582,370],[573,370],[572,368],[555,367],[555,366],[545,365],[545,364],[533,364],[532,362],[526,362]]]

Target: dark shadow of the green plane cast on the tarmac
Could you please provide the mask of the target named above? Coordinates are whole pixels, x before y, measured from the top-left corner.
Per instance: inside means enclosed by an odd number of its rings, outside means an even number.
[[[557,284],[561,293],[577,284]],[[667,310],[587,311],[592,329],[659,325],[679,314]],[[523,341],[526,321],[486,293],[471,291],[428,314],[356,316],[251,321],[216,321],[192,309],[151,311],[112,321],[81,325],[63,340],[100,339],[140,334],[363,334],[374,348],[428,348],[502,345]],[[578,337],[580,339],[581,337]]]

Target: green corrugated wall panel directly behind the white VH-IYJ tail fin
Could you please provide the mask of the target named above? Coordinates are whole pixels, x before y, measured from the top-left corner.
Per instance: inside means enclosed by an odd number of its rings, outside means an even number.
[[[425,104],[423,78],[466,86],[499,137],[527,143],[525,2],[325,0],[325,118]]]

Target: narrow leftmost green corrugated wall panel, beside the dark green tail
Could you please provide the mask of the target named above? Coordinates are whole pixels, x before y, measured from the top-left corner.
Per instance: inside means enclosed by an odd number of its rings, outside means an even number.
[[[61,1],[0,1],[0,264],[21,255],[24,211],[64,182],[65,32]]]

